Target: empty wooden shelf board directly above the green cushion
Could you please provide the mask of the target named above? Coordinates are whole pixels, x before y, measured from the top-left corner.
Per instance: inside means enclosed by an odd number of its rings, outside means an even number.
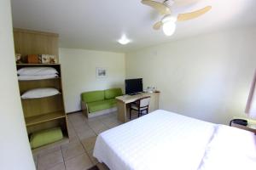
[[[25,121],[26,121],[26,126],[32,126],[41,122],[48,122],[55,119],[60,119],[65,116],[66,115],[64,111],[55,111],[55,112],[50,112],[50,113],[42,114],[38,116],[26,117]]]

